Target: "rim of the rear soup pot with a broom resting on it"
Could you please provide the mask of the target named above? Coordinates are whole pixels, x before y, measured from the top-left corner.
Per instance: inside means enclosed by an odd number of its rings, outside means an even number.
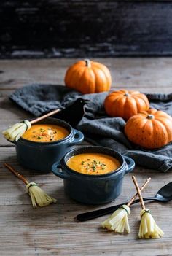
[[[30,119],[29,121],[33,120]],[[71,136],[73,135],[74,133],[74,128],[71,127],[71,125],[69,125],[69,123],[67,123],[66,121],[64,120],[61,120],[61,119],[58,119],[58,118],[54,118],[54,117],[47,117],[45,118],[44,120],[53,120],[53,121],[60,121],[60,123],[64,123],[65,125],[67,125],[70,129],[70,132],[69,132],[69,135],[64,137],[63,139],[58,139],[57,141],[50,141],[50,142],[39,142],[39,141],[30,141],[29,139],[24,139],[22,137],[20,137],[20,139],[18,141],[20,142],[24,142],[24,143],[28,143],[28,144],[38,144],[38,145],[53,145],[53,144],[60,144],[62,143],[63,141],[68,141],[69,139],[71,139]],[[40,120],[38,123],[35,123],[35,124],[42,124],[42,122],[44,122],[44,120]],[[48,123],[47,123],[48,124]],[[58,124],[57,124],[58,125]],[[59,125],[60,126],[60,125]],[[63,127],[63,126],[62,126]],[[64,127],[63,127],[64,128]],[[66,129],[67,130],[67,129]],[[69,131],[69,130],[68,130]]]

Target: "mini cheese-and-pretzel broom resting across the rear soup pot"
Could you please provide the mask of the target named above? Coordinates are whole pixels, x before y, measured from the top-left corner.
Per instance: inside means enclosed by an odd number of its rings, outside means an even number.
[[[55,109],[52,112],[49,112],[46,115],[42,115],[42,117],[37,117],[34,120],[23,120],[20,123],[15,123],[15,125],[12,125],[12,127],[3,131],[2,133],[4,134],[5,139],[9,141],[17,141],[26,131],[28,131],[31,128],[31,125],[34,125],[34,123],[37,123],[40,120],[43,120],[44,118],[55,115],[59,111],[60,109]]]

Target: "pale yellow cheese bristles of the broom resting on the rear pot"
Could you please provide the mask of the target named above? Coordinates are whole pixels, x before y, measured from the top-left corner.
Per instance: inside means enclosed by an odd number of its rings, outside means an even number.
[[[11,128],[3,131],[5,139],[9,141],[17,141],[20,137],[31,128],[31,123],[28,120],[23,120],[21,123],[12,125]]]

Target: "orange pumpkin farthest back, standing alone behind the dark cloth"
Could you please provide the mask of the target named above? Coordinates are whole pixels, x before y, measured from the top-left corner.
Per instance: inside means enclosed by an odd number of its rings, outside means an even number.
[[[101,93],[109,90],[112,78],[109,69],[101,63],[78,61],[66,71],[65,84],[80,93]]]

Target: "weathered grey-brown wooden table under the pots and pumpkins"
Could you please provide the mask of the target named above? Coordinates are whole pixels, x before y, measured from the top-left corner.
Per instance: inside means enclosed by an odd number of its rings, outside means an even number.
[[[28,118],[28,113],[9,101],[8,96],[24,85],[42,82],[62,84],[66,68],[74,59],[0,61],[0,130],[17,120]],[[139,89],[142,92],[171,92],[172,58],[106,58],[98,59],[112,71],[113,87]],[[12,164],[30,181],[37,182],[58,203],[42,209],[32,209],[31,199],[22,182],[4,168]],[[151,166],[150,166],[151,167]],[[157,224],[165,232],[162,239],[138,240],[140,206],[134,205],[130,214],[128,235],[109,233],[100,228],[100,217],[88,222],[75,222],[74,217],[101,206],[86,206],[68,198],[63,181],[53,174],[36,174],[17,163],[15,147],[0,138],[0,255],[172,255],[172,214],[170,203],[146,203],[152,209]],[[166,174],[136,167],[133,173],[142,184],[147,177],[152,182],[143,195],[155,195],[171,181]],[[115,201],[128,200],[135,188],[131,174],[124,179],[123,191]],[[108,206],[113,205],[109,203]]]

